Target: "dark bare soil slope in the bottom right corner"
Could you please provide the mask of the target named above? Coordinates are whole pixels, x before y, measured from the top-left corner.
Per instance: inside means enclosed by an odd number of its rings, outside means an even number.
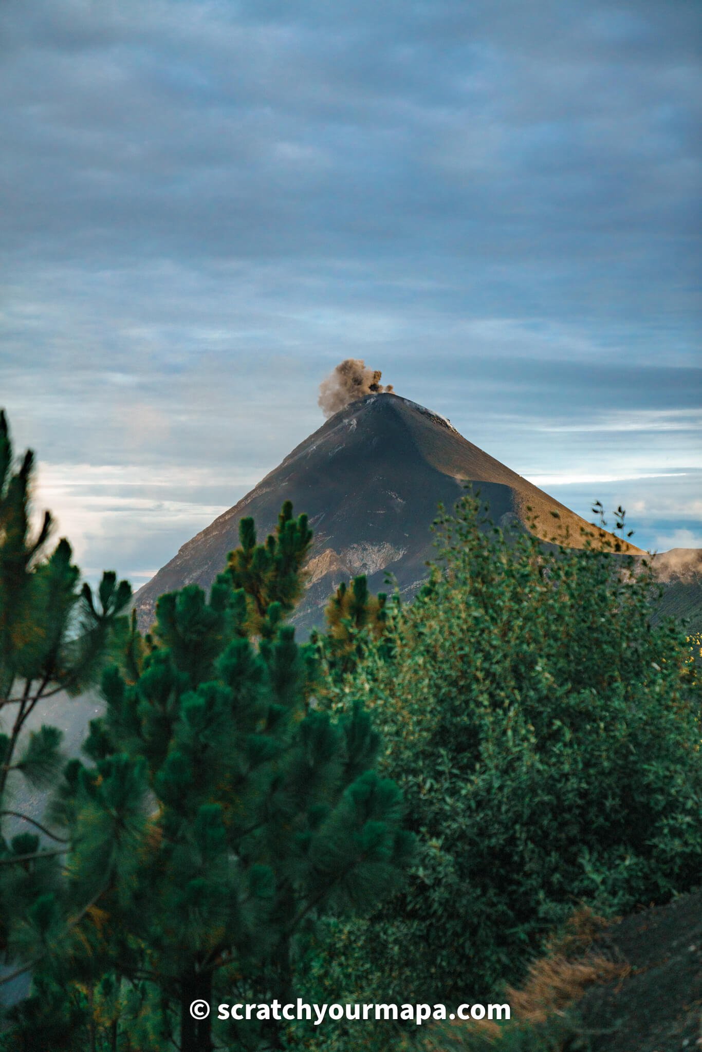
[[[702,1048],[702,891],[625,917],[608,929],[604,949],[631,974],[580,1002],[590,1052]]]

